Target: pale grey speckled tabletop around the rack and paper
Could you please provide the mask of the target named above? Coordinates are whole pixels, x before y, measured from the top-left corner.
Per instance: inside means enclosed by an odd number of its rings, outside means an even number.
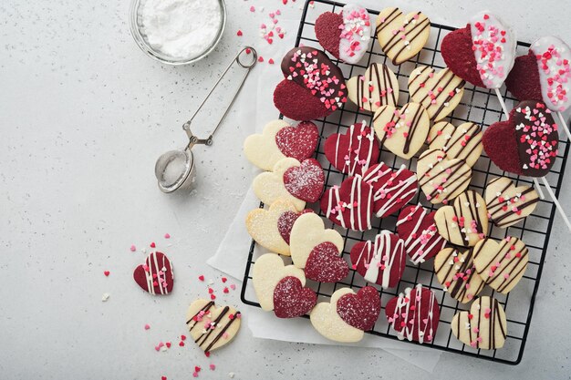
[[[489,8],[509,20],[522,40],[571,36],[568,9],[556,0],[533,9],[519,1],[409,3],[400,6],[412,10],[420,4],[434,21],[453,26]],[[206,295],[199,274],[215,281],[219,300],[239,305],[238,292],[223,295],[220,275],[204,262],[251,180],[238,141],[251,126],[227,122],[225,138],[208,154],[200,151],[201,182],[192,195],[162,195],[152,168],[162,151],[181,145],[182,122],[236,46],[255,43],[264,54],[266,45],[257,37],[260,15],[247,9],[252,4],[264,4],[265,12],[280,8],[283,17],[300,15],[297,5],[278,0],[229,0],[221,46],[194,66],[163,67],[131,40],[127,1],[0,3],[2,378],[182,379],[192,378],[194,365],[202,366],[201,378],[229,372],[244,379],[430,376],[381,351],[254,340],[245,328],[232,347],[211,359],[192,344],[178,346],[186,306]],[[392,3],[377,7],[386,5]],[[245,35],[240,40],[238,28]],[[270,99],[267,104],[272,107]],[[202,130],[208,129],[205,123]],[[567,169],[565,195],[569,175]],[[562,198],[571,210],[571,201]],[[162,238],[167,231],[171,241]],[[174,262],[170,297],[151,298],[130,279],[144,257],[129,251],[131,243],[150,241],[166,248]],[[569,378],[569,244],[558,220],[521,365],[443,354],[431,376]],[[101,303],[106,292],[109,301]],[[144,324],[151,330],[144,331]],[[173,343],[168,353],[155,352],[160,341]],[[209,363],[217,366],[214,372]]]

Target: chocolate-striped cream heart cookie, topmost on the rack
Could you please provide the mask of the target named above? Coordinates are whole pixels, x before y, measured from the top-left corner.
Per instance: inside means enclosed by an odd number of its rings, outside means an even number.
[[[420,12],[403,15],[399,8],[385,8],[377,17],[377,38],[394,65],[419,54],[431,34],[431,21]]]

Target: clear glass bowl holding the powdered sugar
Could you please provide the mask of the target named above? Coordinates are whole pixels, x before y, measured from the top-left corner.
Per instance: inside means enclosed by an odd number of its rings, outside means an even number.
[[[152,47],[142,31],[141,5],[143,5],[144,2],[145,0],[131,0],[129,19],[130,34],[133,36],[137,46],[139,46],[147,56],[151,56],[151,58],[156,61],[173,66],[192,64],[193,62],[201,60],[204,56],[208,56],[222,38],[224,26],[226,26],[226,4],[224,3],[224,0],[218,0],[218,3],[220,3],[220,11],[222,13],[222,23],[220,24],[220,29],[218,30],[218,34],[216,35],[216,38],[214,38],[212,45],[208,46],[199,56],[173,57],[166,55]]]

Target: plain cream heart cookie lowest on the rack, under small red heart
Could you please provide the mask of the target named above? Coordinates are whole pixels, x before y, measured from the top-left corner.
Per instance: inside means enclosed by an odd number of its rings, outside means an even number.
[[[309,314],[311,324],[327,339],[335,342],[353,343],[363,339],[363,330],[345,322],[337,313],[337,302],[346,294],[355,294],[350,288],[341,288],[331,295],[329,303],[317,303]]]

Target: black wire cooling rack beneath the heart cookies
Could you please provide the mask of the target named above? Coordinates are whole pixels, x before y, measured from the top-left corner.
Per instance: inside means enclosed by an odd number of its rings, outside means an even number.
[[[317,46],[321,48],[317,42],[314,32],[315,20],[318,15],[323,12],[339,12],[340,8],[344,5],[328,0],[316,0],[313,2],[314,9],[311,9],[309,0],[303,10],[299,30],[297,33],[296,46]],[[379,11],[369,9],[369,14],[372,17],[379,15]],[[441,39],[455,28],[451,26],[442,26],[438,24],[431,24],[431,37],[426,46],[422,49],[418,56],[410,59],[410,61],[403,63],[399,67],[395,67],[390,63],[382,51],[380,50],[379,43],[376,36],[367,55],[361,59],[362,65],[348,65],[342,62],[335,61],[342,69],[346,79],[355,77],[358,74],[364,74],[370,63],[380,62],[388,65],[399,78],[400,84],[400,102],[399,105],[405,104],[409,99],[409,91],[407,81],[410,73],[415,67],[431,66],[437,69],[445,67],[444,61],[440,54]],[[518,55],[526,54],[529,44],[518,43]],[[517,100],[512,98],[507,90],[504,90],[504,99],[508,108],[514,107]],[[498,102],[495,94],[491,90],[483,88],[472,87],[467,84],[464,89],[464,96],[460,105],[446,118],[453,124],[458,125],[466,121],[472,121],[480,124],[486,128],[490,124],[501,120],[504,116],[500,103]],[[372,114],[367,111],[362,111],[357,106],[350,102],[341,108],[333,115],[316,120],[317,127],[320,128],[320,141],[317,146],[316,159],[321,163],[326,172],[326,187],[339,185],[342,180],[347,176],[339,173],[337,169],[333,168],[325,158],[323,145],[325,139],[333,133],[344,133],[345,130],[357,121],[365,120],[367,124],[372,125]],[[569,151],[569,144],[565,140],[559,141],[559,156],[555,162],[554,168],[547,175],[547,180],[555,190],[555,194],[559,194],[561,184],[563,183],[563,173],[566,166],[566,156]],[[403,160],[396,157],[387,149],[381,149],[380,160],[384,161],[393,169],[397,169],[400,165],[405,164],[409,169],[416,169],[416,162],[419,154],[410,160]],[[533,182],[528,178],[520,178],[513,174],[506,173],[493,165],[492,161],[483,153],[482,157],[478,160],[476,165],[472,168],[472,182],[470,188],[483,193],[486,183],[493,178],[504,176],[514,180],[516,186],[520,184],[533,185]],[[556,185],[556,186],[553,186]],[[422,205],[430,210],[434,210],[434,206],[428,202],[423,195],[419,193],[410,201],[410,204],[422,203]],[[351,247],[358,241],[373,240],[375,235],[381,230],[395,231],[395,223],[397,221],[397,213],[389,216],[388,218],[378,219],[373,218],[373,228],[370,231],[357,232],[346,231],[334,225],[331,221],[323,216],[319,210],[318,205],[313,205],[320,216],[326,221],[327,228],[335,228],[345,238],[345,249],[343,257],[348,261],[349,252]],[[263,207],[263,204],[260,205]],[[496,298],[504,306],[507,316],[507,337],[504,347],[497,350],[481,350],[475,349],[471,346],[462,344],[452,335],[451,321],[455,313],[461,310],[468,310],[468,304],[462,304],[454,300],[450,295],[442,291],[441,284],[435,278],[433,272],[433,260],[421,263],[419,266],[407,263],[402,280],[399,286],[389,290],[380,290],[379,286],[372,284],[380,292],[380,300],[382,308],[392,297],[403,292],[405,288],[414,286],[417,283],[422,283],[423,286],[429,287],[432,292],[436,294],[437,300],[441,306],[441,319],[438,327],[438,332],[431,344],[423,344],[435,349],[449,351],[457,354],[464,354],[479,357],[494,362],[504,363],[507,365],[517,365],[522,360],[524,354],[525,341],[529,332],[531,324],[532,313],[534,310],[535,295],[539,287],[541,273],[543,270],[543,262],[547,246],[549,244],[549,237],[555,218],[555,206],[550,200],[540,200],[534,213],[528,216],[524,221],[509,227],[508,229],[499,229],[492,225],[489,236],[493,239],[501,240],[506,236],[514,236],[525,242],[529,249],[529,264],[524,273],[524,277],[517,284],[512,292],[507,295],[502,293],[493,292],[492,289],[486,287],[481,295],[491,295]],[[248,252],[248,259],[246,263],[244,282],[242,288],[242,301],[249,305],[259,307],[259,303],[255,301],[254,290],[252,287],[252,264],[255,258],[259,256],[258,250],[255,249],[255,242],[252,241],[250,252]],[[263,253],[263,252],[262,252]],[[289,258],[284,257],[285,260]],[[337,283],[319,283],[307,281],[307,286],[313,288],[319,295],[320,301],[328,301],[330,295],[341,287],[351,287],[356,291],[369,285],[356,271],[351,270],[348,277]],[[378,335],[379,337],[398,339],[397,334],[390,328],[385,316],[384,310],[379,315],[379,321],[372,331],[368,334]],[[404,341],[408,344],[416,344]]]

